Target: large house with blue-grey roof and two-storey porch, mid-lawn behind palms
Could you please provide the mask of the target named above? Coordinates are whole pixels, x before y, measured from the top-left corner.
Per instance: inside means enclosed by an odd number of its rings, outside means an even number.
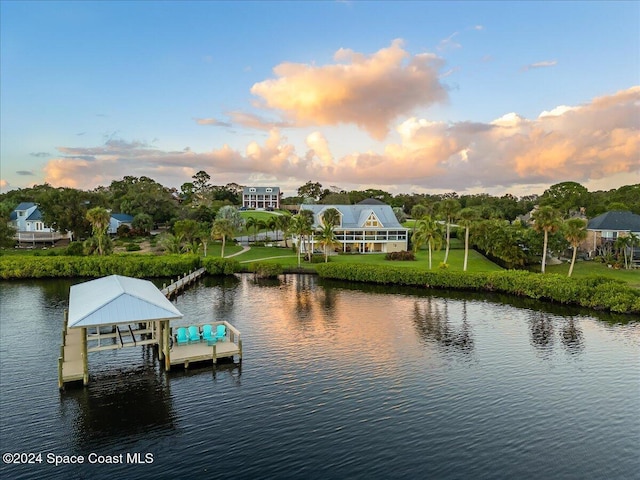
[[[351,253],[390,253],[407,250],[408,229],[398,222],[389,205],[381,202],[375,204],[360,203],[358,205],[302,205],[300,211],[313,213],[313,229],[324,225],[323,214],[335,208],[340,214],[340,223],[335,227],[335,247],[341,252]],[[294,241],[296,241],[294,239]],[[315,236],[311,245],[314,251],[321,251]],[[305,248],[303,246],[302,251]]]

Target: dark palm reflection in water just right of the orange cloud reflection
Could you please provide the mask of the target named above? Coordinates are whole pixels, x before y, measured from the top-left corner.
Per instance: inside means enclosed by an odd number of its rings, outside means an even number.
[[[424,342],[436,342],[444,348],[454,348],[463,353],[473,350],[471,327],[467,321],[467,302],[462,301],[459,326],[452,326],[449,320],[447,299],[427,298],[414,302],[413,323]]]

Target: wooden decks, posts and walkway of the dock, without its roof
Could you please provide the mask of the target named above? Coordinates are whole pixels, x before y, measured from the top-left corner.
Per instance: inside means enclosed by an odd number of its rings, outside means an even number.
[[[189,285],[196,282],[206,273],[204,268],[185,274],[169,286],[163,286],[160,292],[168,299],[178,295]],[[142,345],[157,346],[158,357],[164,361],[165,370],[169,371],[171,365],[184,365],[190,363],[211,361],[214,365],[218,358],[235,357],[242,360],[242,340],[240,332],[226,321],[209,322],[215,330],[217,325],[225,325],[227,336],[217,342],[200,340],[178,345],[173,333],[174,328],[169,326],[168,320],[157,320],[142,323],[104,325],[107,333],[103,333],[101,327],[69,328],[68,312],[65,311],[64,327],[62,332],[62,346],[58,358],[58,387],[64,388],[69,382],[82,381],[84,385],[89,382],[88,353],[103,350],[114,350],[125,347],[137,347]],[[196,325],[201,329],[202,324]],[[109,327],[111,329],[109,330]]]

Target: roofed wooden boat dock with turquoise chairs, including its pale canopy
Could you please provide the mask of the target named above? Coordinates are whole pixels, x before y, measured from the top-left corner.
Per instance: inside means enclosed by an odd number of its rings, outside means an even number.
[[[103,294],[105,290],[113,290],[112,284],[114,282],[118,285],[117,288],[124,288],[121,284],[127,284],[127,288],[130,288],[131,292],[127,292],[126,288],[122,293],[116,292],[117,296],[112,296],[95,312],[90,312],[85,317],[82,317],[77,325],[69,325],[70,315],[68,311],[65,311],[62,346],[58,357],[58,387],[63,389],[66,383],[76,381],[82,381],[84,385],[87,385],[89,382],[88,354],[103,350],[154,345],[157,347],[159,360],[164,362],[166,371],[169,371],[172,365],[184,365],[184,368],[188,368],[190,363],[203,361],[211,361],[215,365],[217,359],[223,357],[233,358],[237,356],[241,361],[242,340],[240,332],[226,321],[209,322],[214,329],[218,325],[225,325],[226,327],[226,336],[215,342],[199,338],[197,341],[178,345],[174,328],[170,326],[170,321],[182,318],[182,314],[169,300],[197,281],[205,273],[203,268],[190,272],[182,278],[178,278],[169,286],[163,286],[162,290],[153,286],[147,280],[118,276],[112,276],[118,277],[118,279],[112,279],[109,284],[105,283],[104,286],[96,284],[96,289],[91,289],[89,296],[97,297]],[[107,279],[108,277],[104,277],[104,279],[92,282],[101,282]],[[140,292],[149,297],[146,299],[140,298]],[[69,301],[70,311],[72,309],[72,296],[70,295]],[[77,294],[77,296],[80,296],[80,294]],[[111,307],[114,307],[114,303],[117,302],[122,302],[119,309],[110,310]],[[162,313],[158,313],[158,305],[162,302],[166,304],[165,310],[161,310]],[[85,302],[78,300],[77,303],[80,305],[78,310],[82,310]],[[104,311],[101,311],[102,309]],[[137,318],[135,320],[117,318],[116,313],[118,311],[130,314],[131,311],[139,309],[153,310],[154,316],[142,320]],[[91,318],[91,321],[94,322],[91,323],[87,320],[90,316],[100,318]],[[192,325],[196,326],[198,331],[203,326],[202,324]],[[106,332],[104,331],[105,329]]]

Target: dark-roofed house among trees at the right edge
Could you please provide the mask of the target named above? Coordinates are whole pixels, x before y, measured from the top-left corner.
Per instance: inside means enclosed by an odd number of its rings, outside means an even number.
[[[631,233],[640,236],[640,215],[620,210],[605,212],[589,220],[587,238],[582,246],[592,257],[597,254],[599,247],[613,243],[619,237],[626,237]],[[636,252],[638,252],[637,247]]]

